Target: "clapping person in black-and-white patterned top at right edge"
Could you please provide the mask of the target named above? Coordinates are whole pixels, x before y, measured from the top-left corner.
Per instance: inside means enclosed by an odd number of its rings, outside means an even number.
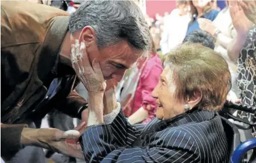
[[[230,15],[237,36],[230,42],[227,50],[234,62],[237,62],[237,86],[241,102],[256,106],[256,1],[230,1]],[[241,118],[256,122],[253,114],[239,112]],[[255,126],[252,130],[256,137]]]

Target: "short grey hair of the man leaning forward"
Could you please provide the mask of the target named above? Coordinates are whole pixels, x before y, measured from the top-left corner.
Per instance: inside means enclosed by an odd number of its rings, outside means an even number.
[[[151,38],[145,17],[132,1],[85,1],[69,18],[69,31],[85,26],[96,32],[99,48],[127,40],[144,52],[150,51]]]

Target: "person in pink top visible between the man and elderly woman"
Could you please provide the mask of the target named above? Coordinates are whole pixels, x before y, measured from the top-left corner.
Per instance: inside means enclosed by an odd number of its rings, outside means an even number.
[[[156,115],[155,99],[151,96],[159,76],[163,71],[162,62],[156,53],[152,41],[152,51],[149,58],[141,58],[130,70],[124,80],[120,95],[120,103],[124,115],[131,124],[146,124]]]

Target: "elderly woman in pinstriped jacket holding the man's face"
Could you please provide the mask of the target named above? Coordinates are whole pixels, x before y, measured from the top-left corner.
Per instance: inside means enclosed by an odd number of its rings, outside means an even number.
[[[81,64],[87,71],[80,76],[91,90],[88,126],[80,138],[86,162],[227,162],[227,137],[217,112],[231,77],[222,56],[198,44],[167,54],[152,93],[156,118],[134,126],[115,101],[114,82],[108,81],[103,93],[100,66],[89,64]]]

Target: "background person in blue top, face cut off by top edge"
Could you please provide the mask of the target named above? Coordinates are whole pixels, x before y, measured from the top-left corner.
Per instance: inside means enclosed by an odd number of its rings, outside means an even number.
[[[198,18],[214,20],[219,11],[212,9],[211,1],[209,0],[192,0],[190,3],[191,22],[188,24],[187,35],[194,30],[199,30]]]

